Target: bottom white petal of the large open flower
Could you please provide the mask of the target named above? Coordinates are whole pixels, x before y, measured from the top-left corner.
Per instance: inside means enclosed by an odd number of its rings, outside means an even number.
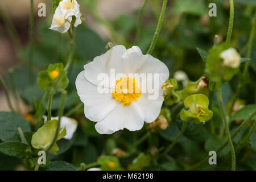
[[[143,115],[135,102],[129,106],[119,104],[106,118],[96,123],[95,128],[98,133],[105,131],[118,131],[124,128],[130,131],[140,130],[143,127]]]

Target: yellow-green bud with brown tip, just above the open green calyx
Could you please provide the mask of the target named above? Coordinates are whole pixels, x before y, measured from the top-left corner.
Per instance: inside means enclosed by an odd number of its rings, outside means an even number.
[[[203,75],[201,78],[199,78],[199,80],[195,82],[188,82],[187,88],[181,90],[181,99],[184,101],[188,96],[198,93],[209,96],[208,85],[209,81],[206,75]]]

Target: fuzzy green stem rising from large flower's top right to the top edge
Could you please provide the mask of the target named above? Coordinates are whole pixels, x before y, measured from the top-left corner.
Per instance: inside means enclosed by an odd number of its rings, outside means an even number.
[[[155,34],[154,34],[154,37],[152,39],[150,48],[147,51],[147,55],[151,55],[151,53],[153,52],[153,50],[155,48],[155,44],[158,41],[158,36],[159,36],[160,30],[161,30],[161,27],[162,27],[162,24],[163,24],[163,20],[164,20],[164,13],[166,12],[166,6],[167,6],[167,0],[164,0],[162,10],[161,10],[161,13],[160,13],[160,17],[159,17],[159,20],[158,20],[158,25],[156,26]]]

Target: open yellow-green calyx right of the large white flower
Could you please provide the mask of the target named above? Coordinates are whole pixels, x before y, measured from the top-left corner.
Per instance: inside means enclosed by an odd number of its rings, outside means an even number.
[[[180,119],[188,121],[193,119],[196,124],[208,121],[213,116],[213,111],[208,109],[209,100],[204,94],[194,94],[184,101],[188,110],[181,110]]]

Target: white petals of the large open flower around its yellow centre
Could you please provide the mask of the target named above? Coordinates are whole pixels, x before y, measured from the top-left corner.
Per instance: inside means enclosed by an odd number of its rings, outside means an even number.
[[[106,64],[106,62],[108,64]],[[142,94],[137,101],[123,106],[110,93],[97,92],[100,73],[109,75],[109,69],[116,73],[159,73],[159,96],[156,100],[148,100],[148,94]],[[97,122],[95,128],[100,134],[112,134],[124,128],[130,131],[140,130],[145,122],[153,122],[160,113],[163,104],[162,84],[168,79],[168,68],[162,61],[151,55],[143,55],[141,49],[133,46],[114,46],[101,56],[84,66],[76,78],[76,88],[80,100],[84,102],[85,117]],[[110,90],[113,85],[110,85]]]

